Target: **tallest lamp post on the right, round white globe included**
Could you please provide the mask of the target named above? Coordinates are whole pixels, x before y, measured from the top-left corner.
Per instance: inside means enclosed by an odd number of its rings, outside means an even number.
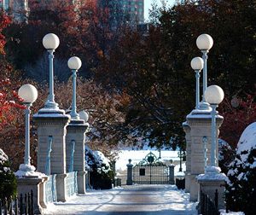
[[[209,109],[209,104],[206,102],[205,99],[205,91],[207,90],[207,53],[209,52],[209,49],[212,48],[213,40],[212,37],[209,34],[201,34],[196,39],[196,45],[198,49],[201,49],[202,52],[202,59],[204,61],[203,64],[203,96],[202,96],[202,102],[200,105],[201,109]]]

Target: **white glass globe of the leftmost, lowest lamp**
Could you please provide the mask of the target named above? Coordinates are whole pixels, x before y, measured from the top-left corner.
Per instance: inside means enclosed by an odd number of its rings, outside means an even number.
[[[18,90],[18,95],[24,100],[23,103],[32,103],[38,98],[38,90],[32,84],[24,84]]]

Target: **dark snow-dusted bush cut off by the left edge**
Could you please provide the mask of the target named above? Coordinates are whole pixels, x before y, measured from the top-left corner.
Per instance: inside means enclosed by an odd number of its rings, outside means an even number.
[[[8,156],[0,148],[0,199],[15,196],[17,193],[16,177],[9,168]]]

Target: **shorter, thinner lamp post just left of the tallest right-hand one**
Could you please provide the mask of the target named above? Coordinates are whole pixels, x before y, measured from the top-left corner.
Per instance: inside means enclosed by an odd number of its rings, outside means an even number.
[[[195,70],[195,109],[198,109],[200,101],[200,72],[204,67],[204,61],[201,59],[201,57],[194,57],[190,62],[190,65]]]

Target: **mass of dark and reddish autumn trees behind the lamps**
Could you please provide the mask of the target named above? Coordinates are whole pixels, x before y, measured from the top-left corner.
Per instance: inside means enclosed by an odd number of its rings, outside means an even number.
[[[15,73],[17,68],[22,71],[22,79],[19,74],[14,80],[13,74],[4,72],[8,71],[7,64],[1,66],[1,95],[5,101],[2,120],[12,124],[9,129],[4,125],[1,131],[0,144],[4,147],[8,148],[8,142],[16,148],[18,142],[18,148],[24,147],[23,113],[19,111],[13,120],[9,119],[14,114],[5,119],[10,109],[15,110],[14,103],[9,102],[15,100],[12,90],[26,82],[32,83],[39,91],[32,111],[44,106],[48,58],[42,38],[49,32],[61,40],[55,51],[54,66],[57,79],[64,81],[55,82],[55,99],[61,108],[68,109],[71,104],[67,59],[78,55],[83,61],[78,73],[83,77],[78,84],[78,108],[90,113],[91,148],[104,150],[119,142],[137,144],[142,140],[152,146],[183,147],[182,123],[195,107],[195,73],[189,62],[201,56],[195,45],[201,33],[209,33],[214,40],[207,61],[208,84],[220,85],[226,97],[219,108],[225,118],[221,137],[236,148],[243,128],[255,120],[252,77],[256,65],[256,13],[252,1],[184,1],[172,9],[155,9],[154,21],[146,32],[125,23],[114,26],[110,9],[97,7],[96,1],[81,1],[79,5],[73,5],[73,1],[47,2],[29,1],[27,23],[12,23],[6,28],[9,18],[1,14],[0,33],[4,32],[4,36],[0,34],[0,41],[6,46],[6,58],[15,67],[9,73]],[[3,53],[3,48],[0,51]],[[239,106],[233,108],[230,101],[241,91],[244,94]],[[36,149],[36,130],[32,128],[32,162]],[[9,154],[9,149],[4,150]],[[20,152],[15,153],[11,157],[21,157]]]

